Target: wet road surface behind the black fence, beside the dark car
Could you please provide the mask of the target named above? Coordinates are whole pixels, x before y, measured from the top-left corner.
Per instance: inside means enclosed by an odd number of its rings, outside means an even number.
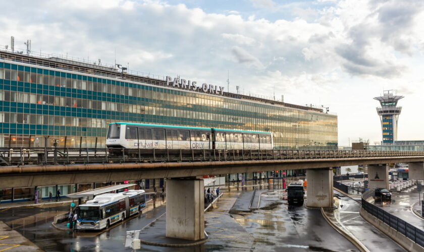
[[[421,200],[423,200],[422,195]],[[418,201],[418,192],[414,189],[410,193],[392,192],[391,201],[380,201],[377,199],[374,204],[384,209],[384,211],[387,211],[409,224],[424,230],[424,220],[412,212],[412,205]]]

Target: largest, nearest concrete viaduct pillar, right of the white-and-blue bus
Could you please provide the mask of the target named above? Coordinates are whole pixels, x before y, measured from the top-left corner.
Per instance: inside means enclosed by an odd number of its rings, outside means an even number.
[[[167,180],[166,236],[204,238],[204,183],[201,179]]]

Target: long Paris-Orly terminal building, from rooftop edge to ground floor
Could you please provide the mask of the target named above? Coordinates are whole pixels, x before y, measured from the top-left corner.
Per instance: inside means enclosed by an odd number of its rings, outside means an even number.
[[[271,132],[275,149],[338,148],[337,115],[323,109],[228,93],[196,80],[0,50],[0,147],[31,147],[41,136],[59,140],[59,147],[105,147],[108,124],[118,121]],[[286,174],[266,173],[260,175]],[[240,175],[228,179],[259,177]],[[125,182],[142,188],[164,183],[150,180]],[[58,189],[65,196],[125,182],[2,188],[0,201],[30,200],[35,190],[45,198]]]

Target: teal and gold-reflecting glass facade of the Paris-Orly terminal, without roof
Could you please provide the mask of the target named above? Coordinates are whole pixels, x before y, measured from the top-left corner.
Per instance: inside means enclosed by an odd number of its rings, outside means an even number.
[[[146,81],[147,82],[147,81]],[[34,137],[105,146],[125,121],[272,132],[275,149],[337,149],[337,116],[13,62],[0,58],[0,146]]]

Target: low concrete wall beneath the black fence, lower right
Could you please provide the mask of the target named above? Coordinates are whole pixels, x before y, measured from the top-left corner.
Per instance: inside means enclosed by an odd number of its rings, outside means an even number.
[[[378,228],[381,232],[389,236],[391,239],[396,241],[399,245],[405,248],[408,251],[422,251],[424,252],[424,248],[420,245],[416,244],[413,240],[409,239],[405,235],[399,233],[395,229],[391,228],[389,225],[379,220],[377,217],[373,216],[366,212],[363,208],[359,210],[359,214],[365,219],[367,222]]]

